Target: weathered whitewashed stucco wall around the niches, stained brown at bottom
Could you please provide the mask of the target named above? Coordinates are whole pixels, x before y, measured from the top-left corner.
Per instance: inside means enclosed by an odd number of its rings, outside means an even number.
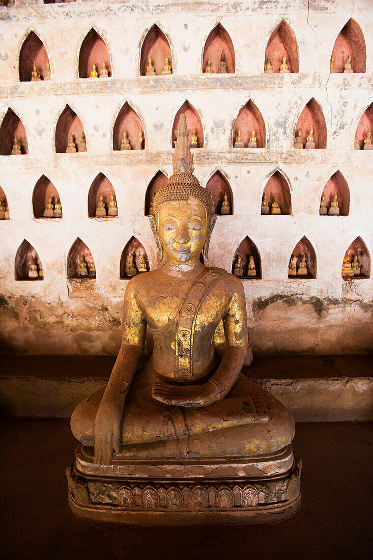
[[[27,6],[24,6],[27,4]],[[269,37],[285,17],[299,45],[300,73],[264,74]],[[335,39],[350,17],[366,41],[366,73],[329,74]],[[195,150],[195,175],[206,186],[220,169],[229,180],[234,215],[218,217],[209,264],[231,270],[246,235],[258,248],[262,279],[244,281],[254,351],[357,353],[372,347],[373,279],[343,281],[344,253],[357,236],[373,256],[373,151],[354,150],[357,124],[373,100],[373,21],[370,0],[287,2],[116,2],[44,4],[16,0],[0,8],[0,122],[8,107],[24,124],[29,153],[0,156],[0,186],[10,220],[0,221],[2,351],[105,354],[118,351],[122,250],[131,236],[144,246],[150,267],[156,249],[144,216],[147,185],[171,167],[171,129],[186,99],[197,109],[204,147]],[[201,72],[204,43],[221,22],[235,48],[236,73]],[[142,41],[158,24],[169,39],[173,75],[139,76]],[[78,78],[78,55],[87,32],[108,46],[113,76]],[[30,30],[43,41],[52,79],[20,82],[18,59]],[[325,150],[294,150],[299,115],[314,97],[327,125]],[[262,113],[265,148],[234,150],[232,129],[252,99]],[[140,116],[145,150],[113,151],[116,116],[128,101]],[[55,153],[54,133],[66,104],[77,113],[87,152]],[[275,170],[288,180],[290,216],[261,216],[265,184]],[[340,170],[350,195],[349,215],[319,216],[321,193]],[[114,186],[118,218],[88,217],[87,197],[102,172]],[[33,216],[32,192],[45,174],[60,195],[62,220]],[[315,279],[288,279],[292,249],[303,236],[316,254]],[[95,259],[96,280],[67,279],[67,255],[80,237]],[[26,239],[38,252],[44,281],[15,280],[15,256]]]

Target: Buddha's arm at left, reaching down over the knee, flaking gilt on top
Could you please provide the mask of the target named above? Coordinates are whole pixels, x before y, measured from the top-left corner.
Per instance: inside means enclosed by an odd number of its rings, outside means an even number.
[[[110,464],[113,451],[120,452],[120,433],[125,398],[141,357],[146,321],[137,303],[134,286],[124,294],[122,344],[95,420],[95,463]]]

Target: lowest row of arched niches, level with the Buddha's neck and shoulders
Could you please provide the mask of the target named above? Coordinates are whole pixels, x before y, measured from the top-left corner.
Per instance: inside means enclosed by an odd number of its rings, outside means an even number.
[[[201,253],[201,262],[203,256]],[[213,263],[209,263],[212,265]],[[130,279],[150,270],[149,261],[143,245],[136,237],[131,237],[125,245],[119,263],[119,278]],[[262,266],[259,251],[254,242],[246,236],[237,247],[230,270],[240,279],[261,279]],[[297,242],[293,248],[288,264],[288,278],[316,278],[316,253],[307,237]],[[370,255],[361,239],[357,237],[348,247],[341,263],[343,279],[359,279],[370,277]],[[94,258],[85,242],[79,237],[74,241],[67,257],[67,277],[75,280],[96,278]],[[29,243],[22,241],[15,258],[16,280],[43,280],[43,265],[39,255]]]

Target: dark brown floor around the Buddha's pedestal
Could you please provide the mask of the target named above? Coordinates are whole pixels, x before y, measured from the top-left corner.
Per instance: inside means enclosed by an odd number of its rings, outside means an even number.
[[[372,424],[297,424],[302,505],[274,525],[139,528],[74,516],[65,467],[75,442],[65,420],[0,421],[1,558],[371,558]]]

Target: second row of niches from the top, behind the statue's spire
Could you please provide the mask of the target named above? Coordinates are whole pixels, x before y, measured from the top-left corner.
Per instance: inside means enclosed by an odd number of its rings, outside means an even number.
[[[201,116],[188,100],[177,111],[171,129],[171,146],[176,140],[180,115],[184,113],[186,125],[190,130],[191,148],[203,148],[204,132]],[[372,150],[371,130],[373,130],[373,103],[362,114],[355,132],[354,148]],[[240,109],[232,128],[231,146],[233,148],[265,148],[266,132],[262,113],[249,99]],[[295,137],[291,142],[294,149],[325,149],[327,147],[327,125],[320,105],[312,97],[302,109],[295,127]],[[144,150],[146,138],[141,118],[130,106],[124,103],[116,116],[113,128],[113,150]],[[73,109],[66,105],[55,125],[54,149],[56,153],[77,153],[87,151],[87,138],[83,124]],[[8,108],[0,126],[0,155],[25,155],[29,144],[24,124],[11,108]]]

